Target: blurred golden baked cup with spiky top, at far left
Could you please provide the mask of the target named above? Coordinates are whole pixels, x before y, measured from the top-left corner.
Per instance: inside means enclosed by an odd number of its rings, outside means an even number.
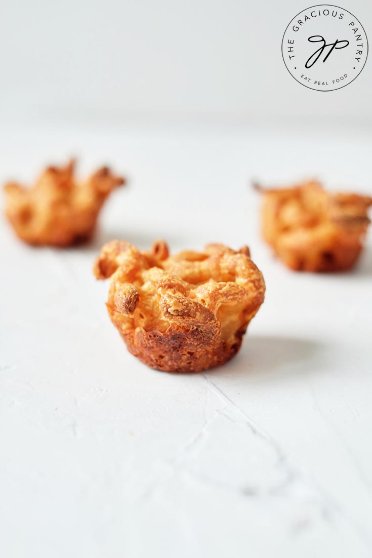
[[[48,167],[33,188],[6,184],[6,215],[18,237],[33,245],[66,247],[88,240],[99,210],[110,192],[124,179],[108,167],[88,180],[74,180],[75,162]]]

